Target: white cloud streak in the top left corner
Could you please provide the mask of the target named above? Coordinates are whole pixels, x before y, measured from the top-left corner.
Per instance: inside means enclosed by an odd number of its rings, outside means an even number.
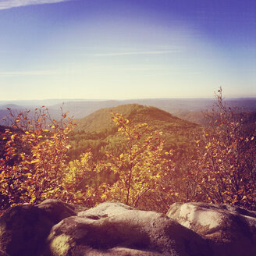
[[[53,4],[57,2],[67,2],[73,0],[0,0],[0,10],[10,9],[27,5]]]

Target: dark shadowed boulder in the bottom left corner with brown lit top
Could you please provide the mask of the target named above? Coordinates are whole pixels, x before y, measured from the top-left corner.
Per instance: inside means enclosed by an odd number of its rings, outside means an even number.
[[[39,255],[52,226],[73,215],[76,207],[56,200],[9,208],[0,217],[0,250],[11,256]]]

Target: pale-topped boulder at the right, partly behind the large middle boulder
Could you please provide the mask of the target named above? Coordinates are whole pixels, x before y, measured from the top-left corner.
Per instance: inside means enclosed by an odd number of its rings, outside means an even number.
[[[215,255],[256,255],[256,212],[227,204],[172,204],[167,215],[210,241]]]

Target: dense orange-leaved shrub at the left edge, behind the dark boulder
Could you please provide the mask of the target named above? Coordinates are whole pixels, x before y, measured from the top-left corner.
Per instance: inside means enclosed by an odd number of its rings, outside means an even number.
[[[5,154],[0,159],[1,209],[58,198],[73,122],[66,113],[59,121],[52,119],[48,108],[17,114],[9,109],[8,119],[12,128],[2,134]]]

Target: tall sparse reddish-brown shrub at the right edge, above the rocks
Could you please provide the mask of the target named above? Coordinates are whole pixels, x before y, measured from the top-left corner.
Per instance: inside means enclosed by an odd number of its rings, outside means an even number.
[[[211,126],[196,140],[197,199],[256,208],[256,144],[245,112],[226,107],[222,88],[215,94]]]

